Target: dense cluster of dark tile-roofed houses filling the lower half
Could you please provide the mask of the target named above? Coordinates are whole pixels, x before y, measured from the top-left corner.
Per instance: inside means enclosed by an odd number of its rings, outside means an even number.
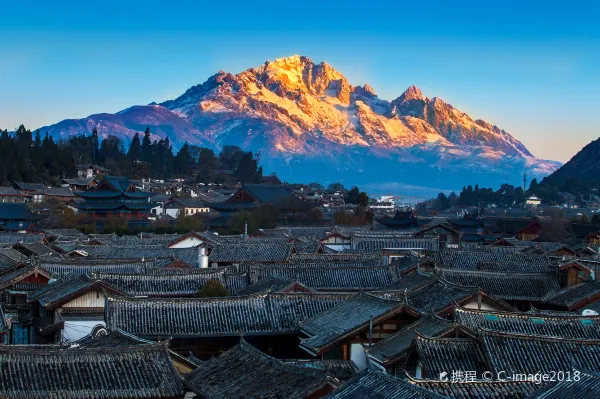
[[[118,179],[96,187],[87,210],[151,211]],[[277,198],[261,190],[221,209]],[[0,232],[0,397],[600,397],[600,236],[389,219]]]

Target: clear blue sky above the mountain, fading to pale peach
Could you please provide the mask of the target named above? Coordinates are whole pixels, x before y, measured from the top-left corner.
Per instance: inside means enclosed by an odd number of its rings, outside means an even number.
[[[488,3],[3,2],[0,128],[164,101],[301,54],[388,100],[416,84],[568,160],[600,135],[600,6]]]

